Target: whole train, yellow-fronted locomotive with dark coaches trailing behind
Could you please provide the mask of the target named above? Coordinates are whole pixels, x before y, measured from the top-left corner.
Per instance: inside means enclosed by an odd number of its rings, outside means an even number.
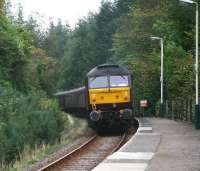
[[[85,86],[57,93],[63,110],[87,118],[93,128],[126,125],[133,117],[132,75],[117,64],[103,64],[88,72]]]

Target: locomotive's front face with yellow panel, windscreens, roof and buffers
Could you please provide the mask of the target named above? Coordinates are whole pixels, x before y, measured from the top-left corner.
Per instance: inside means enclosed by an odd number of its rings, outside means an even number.
[[[131,74],[119,65],[101,65],[87,77],[88,108],[93,122],[132,118]]]

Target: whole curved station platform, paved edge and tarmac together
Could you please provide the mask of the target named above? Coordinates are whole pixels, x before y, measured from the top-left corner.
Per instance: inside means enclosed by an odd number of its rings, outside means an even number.
[[[138,118],[137,133],[93,171],[200,171],[200,130],[164,118]]]

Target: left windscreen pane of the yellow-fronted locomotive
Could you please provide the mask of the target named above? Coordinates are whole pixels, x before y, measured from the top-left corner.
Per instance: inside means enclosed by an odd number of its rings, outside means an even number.
[[[106,87],[108,87],[108,77],[100,76],[100,77],[89,78],[89,87],[90,88],[106,88]]]

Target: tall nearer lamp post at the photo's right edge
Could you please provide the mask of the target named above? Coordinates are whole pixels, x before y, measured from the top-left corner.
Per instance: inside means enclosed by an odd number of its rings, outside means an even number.
[[[196,103],[195,103],[195,127],[196,129],[200,129],[200,111],[199,111],[199,84],[198,84],[198,56],[199,56],[199,49],[198,49],[198,36],[199,36],[199,30],[198,30],[198,18],[199,18],[199,11],[198,11],[198,3],[191,0],[180,0],[182,2],[195,4],[196,5],[196,52],[195,52],[195,75],[196,75]]]

